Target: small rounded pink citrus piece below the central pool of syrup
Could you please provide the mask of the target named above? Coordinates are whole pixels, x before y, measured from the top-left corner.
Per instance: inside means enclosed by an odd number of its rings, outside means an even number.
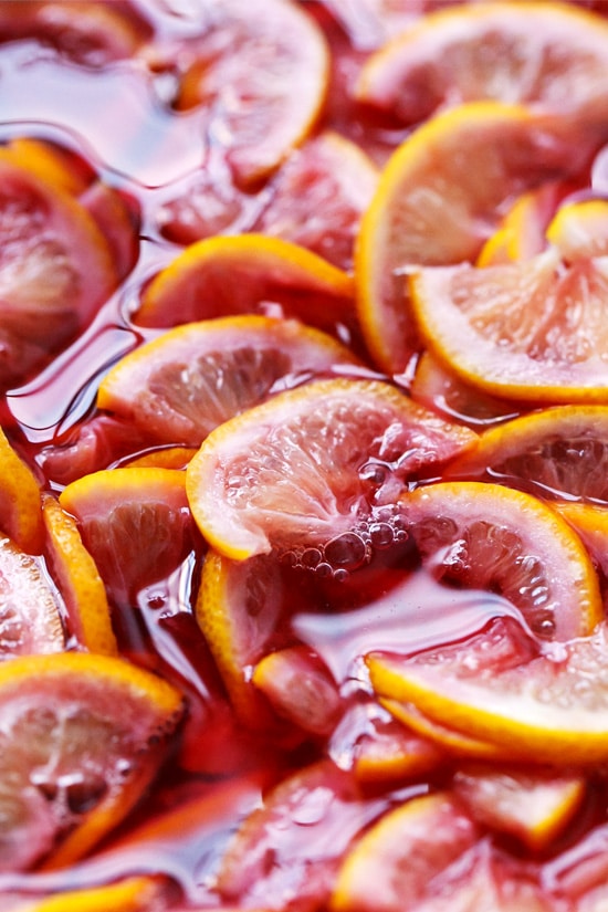
[[[292,646],[264,656],[253,684],[282,719],[312,735],[328,735],[342,713],[339,690],[328,669],[307,647]]]

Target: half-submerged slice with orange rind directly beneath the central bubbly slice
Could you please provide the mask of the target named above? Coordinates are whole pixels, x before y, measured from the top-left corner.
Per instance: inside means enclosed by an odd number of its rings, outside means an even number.
[[[252,684],[255,663],[270,649],[284,604],[276,562],[234,562],[210,549],[205,558],[196,617],[231,703],[248,725],[269,726],[271,713]]]

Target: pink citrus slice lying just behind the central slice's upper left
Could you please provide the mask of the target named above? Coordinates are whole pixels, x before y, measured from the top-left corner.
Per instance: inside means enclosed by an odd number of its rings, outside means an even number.
[[[97,406],[150,443],[199,447],[289,376],[358,364],[348,348],[297,321],[252,314],[178,326],[125,355],[102,380]]]

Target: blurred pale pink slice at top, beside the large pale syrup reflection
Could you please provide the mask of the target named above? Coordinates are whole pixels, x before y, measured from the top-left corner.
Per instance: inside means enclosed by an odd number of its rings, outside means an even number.
[[[313,128],[327,90],[328,49],[315,20],[291,0],[206,6],[207,30],[181,50],[190,61],[176,107],[201,113],[239,181],[251,184]]]

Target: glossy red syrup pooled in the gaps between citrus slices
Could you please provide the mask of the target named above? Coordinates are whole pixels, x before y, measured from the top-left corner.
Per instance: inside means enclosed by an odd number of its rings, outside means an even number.
[[[308,6],[333,34],[343,80],[335,83],[327,125],[344,127],[347,109],[347,134],[357,140],[367,135],[369,149],[382,160],[400,134],[389,124],[369,132],[369,123],[358,116],[352,103],[346,108],[340,105],[361,52],[350,48],[319,6]],[[143,0],[137,9],[167,40],[188,35],[196,28],[186,4],[181,13]],[[28,135],[55,143],[73,157],[76,168],[88,170],[124,193],[139,220],[136,262],[114,295],[77,339],[35,377],[9,390],[2,403],[3,427],[44,474],[45,485],[57,491],[69,480],[61,465],[70,462],[74,467],[87,432],[92,448],[101,449],[90,462],[85,453],[83,463],[76,463],[76,474],[112,465],[144,445],[123,426],[97,413],[95,394],[101,376],[115,360],[155,335],[155,331],[137,327],[130,315],[145,284],[181,250],[179,241],[187,232],[180,233],[180,218],[188,208],[187,198],[197,190],[203,200],[208,190],[214,195],[217,207],[211,206],[209,222],[200,229],[210,233],[218,227],[247,230],[262,207],[262,198],[233,186],[221,155],[207,144],[196,114],[178,116],[161,103],[164,93],[170,95],[170,72],[153,78],[129,61],[94,71],[76,70],[48,50],[42,53],[35,42],[0,46],[0,60],[1,138]],[[605,192],[605,159],[600,154],[594,169],[598,192]],[[200,207],[197,209],[200,212]],[[172,228],[167,230],[168,226]],[[63,463],[57,461],[61,453],[66,457]],[[269,734],[248,727],[235,715],[193,619],[203,552],[197,542],[169,577],[112,606],[122,653],[175,681],[189,702],[181,741],[149,798],[90,859],[66,871],[2,876],[0,895],[13,890],[35,895],[148,872],[171,879],[187,902],[216,908],[226,901],[214,885],[217,868],[245,816],[289,774],[334,757],[329,738],[310,737],[289,720],[279,720],[276,730]],[[325,576],[314,567],[283,560],[281,621],[268,648],[305,646],[313,650],[329,670],[345,707],[363,704],[369,696],[361,659],[366,652],[417,652],[463,641],[496,617],[512,619],[522,627],[522,638],[527,636],[520,614],[500,596],[437,583],[418,566],[407,538],[373,549],[361,566],[345,568],[338,563],[336,558],[334,573]],[[354,807],[353,799],[352,829],[343,834],[340,851],[347,848],[347,836],[355,836],[406,797],[424,794],[451,773],[448,764],[432,779],[360,786],[354,783],[350,766],[356,736],[354,732],[353,744],[348,736],[343,738],[339,749],[339,775],[360,800],[360,806]],[[604,787],[598,787],[598,794],[605,798]],[[594,814],[601,817],[599,810]],[[590,817],[595,821],[594,815]],[[334,826],[339,827],[343,819],[338,817]],[[302,831],[314,824],[311,819],[300,822]],[[591,821],[586,820],[586,826]],[[319,828],[317,832],[323,838],[316,857],[332,858],[327,840],[333,829]],[[294,850],[297,858],[312,845],[302,836],[300,849]],[[546,867],[544,878],[548,890],[576,897],[587,882],[583,887],[574,883],[568,861],[572,858],[578,866],[583,858],[591,871],[589,883],[597,882],[606,866],[605,826],[598,824],[569,851]],[[290,861],[286,853],[281,862],[285,870]],[[259,899],[255,884],[250,888],[249,892],[244,888],[237,891],[235,901],[243,893]]]

